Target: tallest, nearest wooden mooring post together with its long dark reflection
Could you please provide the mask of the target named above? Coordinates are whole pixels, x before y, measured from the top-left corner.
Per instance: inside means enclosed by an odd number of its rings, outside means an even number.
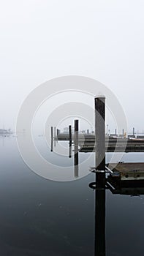
[[[95,142],[95,255],[105,256],[105,97],[95,98]]]

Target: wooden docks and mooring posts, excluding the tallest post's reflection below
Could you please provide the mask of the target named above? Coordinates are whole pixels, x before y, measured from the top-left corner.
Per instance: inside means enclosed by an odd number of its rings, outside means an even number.
[[[79,133],[79,121],[75,120],[75,132],[72,135],[72,126],[69,125],[68,134],[57,132],[58,140],[69,140],[69,158],[72,157],[72,141],[74,145],[75,176],[77,176],[78,153],[95,152],[95,167],[90,170],[100,173],[97,179],[104,181],[105,172],[110,173],[110,178],[118,184],[123,181],[144,180],[144,163],[112,163],[105,165],[105,152],[144,152],[143,138],[105,138],[105,97],[94,99],[95,107],[95,132],[81,135]],[[58,130],[59,131],[59,130]],[[56,127],[54,128],[54,135]],[[115,130],[116,133],[116,130]],[[124,135],[124,129],[122,130]],[[133,128],[134,135],[134,128]],[[51,151],[53,151],[53,127],[51,127]],[[102,173],[103,172],[103,173]],[[102,177],[102,178],[100,178]]]

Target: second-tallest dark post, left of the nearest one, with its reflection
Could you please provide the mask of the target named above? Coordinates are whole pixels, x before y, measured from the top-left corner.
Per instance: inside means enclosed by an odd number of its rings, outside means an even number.
[[[75,120],[75,178],[78,177],[78,120]]]

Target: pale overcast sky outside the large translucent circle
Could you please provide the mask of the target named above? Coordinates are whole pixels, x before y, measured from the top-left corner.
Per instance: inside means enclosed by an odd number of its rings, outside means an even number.
[[[129,129],[144,130],[143,0],[0,1],[0,127],[15,127],[23,99],[63,75],[104,83]]]

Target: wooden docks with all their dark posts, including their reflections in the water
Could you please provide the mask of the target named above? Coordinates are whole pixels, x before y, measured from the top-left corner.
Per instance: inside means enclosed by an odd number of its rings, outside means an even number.
[[[90,170],[95,175],[95,181],[89,187],[95,190],[95,236],[94,255],[105,256],[105,192],[110,189],[113,194],[121,195],[144,195],[144,163],[118,162],[105,164],[105,152],[144,151],[144,140],[135,138],[105,138],[105,97],[96,97],[95,105],[95,133],[84,135],[78,133],[78,120],[75,120],[75,134],[72,138],[72,128],[69,125],[69,134],[58,134],[59,140],[69,140],[70,153],[72,156],[72,140],[75,147],[75,177],[78,177],[78,154],[80,152],[95,152],[95,166]],[[122,131],[124,135],[124,129]],[[134,133],[134,131],[133,131]],[[115,131],[116,134],[116,131]],[[53,127],[51,127],[53,142]],[[64,137],[65,136],[65,137]],[[84,143],[84,144],[83,144]],[[53,144],[53,143],[52,143]],[[81,146],[83,144],[83,146]],[[78,150],[80,146],[80,150]],[[107,148],[107,150],[106,150]],[[109,174],[106,176],[106,173]]]

